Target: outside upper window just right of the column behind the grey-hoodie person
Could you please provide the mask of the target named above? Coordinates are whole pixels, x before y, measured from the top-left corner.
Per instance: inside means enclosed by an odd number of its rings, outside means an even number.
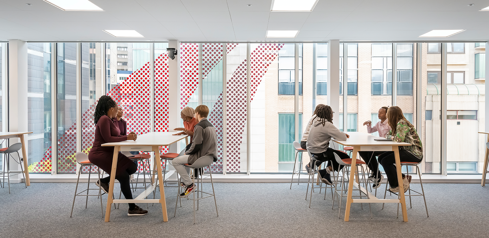
[[[343,95],[342,83],[343,83],[343,45],[339,45],[339,94]],[[347,83],[348,83],[348,95],[357,95],[357,83],[358,83],[358,44],[347,44]]]

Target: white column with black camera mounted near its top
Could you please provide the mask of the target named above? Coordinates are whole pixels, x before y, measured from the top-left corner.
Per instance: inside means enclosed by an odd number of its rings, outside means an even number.
[[[168,41],[168,48],[175,48],[177,49],[177,55],[175,56],[175,59],[168,59],[168,75],[169,75],[169,104],[168,104],[168,110],[169,110],[169,118],[168,118],[168,129],[173,130],[174,128],[179,127],[179,117],[180,117],[180,111],[178,108],[180,98],[178,97],[179,92],[180,92],[180,84],[178,82],[178,62],[180,62],[180,42],[178,40],[169,40]],[[170,146],[170,152],[172,153],[178,153],[177,151],[177,145]]]

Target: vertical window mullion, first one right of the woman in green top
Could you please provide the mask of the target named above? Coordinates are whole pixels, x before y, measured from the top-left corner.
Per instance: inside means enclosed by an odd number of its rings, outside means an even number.
[[[446,44],[442,43],[442,84],[440,93],[442,94],[442,151],[441,163],[442,175],[446,175]],[[436,114],[435,114],[436,116]]]

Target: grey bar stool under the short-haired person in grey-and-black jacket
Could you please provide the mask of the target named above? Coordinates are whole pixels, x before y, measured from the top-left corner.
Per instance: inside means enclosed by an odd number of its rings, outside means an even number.
[[[195,171],[195,169],[203,169],[205,167],[208,168],[209,170],[209,175],[210,175],[210,178],[211,178],[211,186],[212,186],[212,194],[211,193],[207,193],[207,192],[204,192],[202,191],[202,187],[200,186],[200,190],[199,188],[197,188],[197,190],[194,189],[194,191],[192,191],[193,193],[193,198],[189,198],[189,196],[187,196],[186,198],[188,200],[193,200],[194,201],[194,224],[196,224],[196,220],[195,220],[195,201],[199,202],[200,199],[203,199],[203,198],[207,198],[207,197],[211,197],[213,196],[214,197],[214,204],[216,205],[216,214],[217,216],[219,216],[219,213],[217,211],[217,201],[216,201],[216,195],[215,195],[215,191],[214,191],[214,182],[212,181],[212,172],[211,172],[211,164],[214,162],[214,157],[210,156],[210,155],[205,155],[205,156],[202,156],[200,158],[198,158],[193,164],[189,165],[189,164],[185,164],[184,166],[186,167],[189,167],[192,169],[192,171]],[[199,174],[194,174],[194,178],[192,178],[192,182],[194,183],[194,186],[195,186],[195,178],[199,176]],[[201,176],[201,175],[200,175]],[[200,178],[202,179],[202,178]],[[198,181],[199,182],[199,181]],[[180,179],[178,179],[178,184],[180,184]],[[178,197],[180,196],[180,187],[181,186],[178,186]],[[204,197],[199,197],[199,195],[197,195],[197,198],[195,198],[195,193],[201,193],[201,194],[207,194],[208,196],[204,196]],[[178,205],[178,199],[177,201],[175,202],[175,214],[173,215],[174,217],[177,216],[177,205]],[[181,202],[180,202],[180,207],[181,207]]]

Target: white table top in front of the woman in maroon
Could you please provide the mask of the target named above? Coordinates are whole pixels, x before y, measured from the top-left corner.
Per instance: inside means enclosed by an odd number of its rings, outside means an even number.
[[[188,135],[172,135],[172,132],[150,132],[138,135],[136,141],[127,140],[121,142],[105,143],[102,146],[169,146],[179,140],[185,139]]]

